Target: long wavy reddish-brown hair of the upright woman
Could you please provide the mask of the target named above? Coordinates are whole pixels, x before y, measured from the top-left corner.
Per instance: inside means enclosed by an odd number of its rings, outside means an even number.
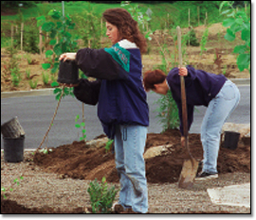
[[[137,21],[124,8],[109,8],[103,12],[105,21],[116,25],[119,29],[121,38],[130,42],[135,42],[141,53],[147,51],[147,42],[138,29]]]

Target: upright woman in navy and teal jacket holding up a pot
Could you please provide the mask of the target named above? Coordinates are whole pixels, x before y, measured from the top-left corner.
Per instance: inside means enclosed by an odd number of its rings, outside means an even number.
[[[111,48],[83,48],[64,53],[60,60],[73,59],[86,76],[74,94],[80,101],[96,105],[105,134],[115,140],[119,173],[119,204],[115,210],[148,212],[148,190],[143,153],[149,126],[149,109],[142,84],[141,53],[147,43],[137,22],[123,8],[103,12]]]

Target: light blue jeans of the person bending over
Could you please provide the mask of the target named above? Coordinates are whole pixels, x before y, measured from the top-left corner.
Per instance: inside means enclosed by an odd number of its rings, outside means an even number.
[[[239,100],[238,88],[228,79],[220,92],[210,101],[201,127],[201,142],[204,150],[203,172],[218,173],[217,159],[221,130]]]

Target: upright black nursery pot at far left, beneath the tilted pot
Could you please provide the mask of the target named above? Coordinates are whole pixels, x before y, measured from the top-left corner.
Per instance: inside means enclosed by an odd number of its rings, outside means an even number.
[[[24,141],[25,136],[19,138],[3,137],[4,139],[4,161],[20,162],[24,161]]]

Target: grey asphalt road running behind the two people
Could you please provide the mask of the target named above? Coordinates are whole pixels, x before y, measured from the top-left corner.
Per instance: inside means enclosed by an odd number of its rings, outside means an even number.
[[[241,92],[239,106],[230,115],[228,122],[236,124],[250,123],[250,86],[238,86]],[[148,103],[150,107],[150,127],[148,132],[159,133],[162,127],[157,123],[155,101],[159,95],[148,93]],[[49,123],[53,117],[57,106],[54,95],[38,95],[1,98],[1,124],[9,121],[14,116],[18,116],[21,126],[24,128],[25,148],[37,148],[41,144]],[[200,126],[206,111],[205,107],[196,107],[194,112],[194,122],[190,133],[199,133]],[[79,141],[81,129],[75,127],[76,115],[82,118],[82,103],[71,96],[64,97],[51,127],[48,138],[44,146],[57,147],[62,144],[71,144]],[[85,127],[87,140],[92,140],[101,135],[103,130],[101,122],[97,117],[97,107],[85,105]],[[1,149],[3,148],[3,138],[1,138]]]

